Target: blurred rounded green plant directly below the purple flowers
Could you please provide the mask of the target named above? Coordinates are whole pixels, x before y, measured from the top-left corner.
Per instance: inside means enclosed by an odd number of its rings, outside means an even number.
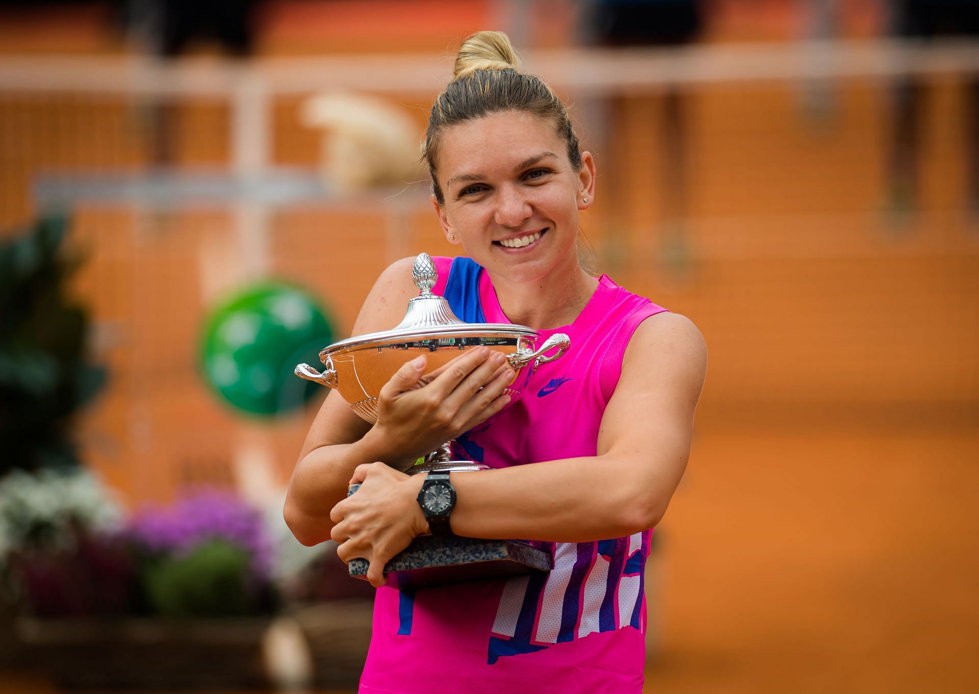
[[[145,570],[153,614],[163,617],[241,617],[256,612],[249,553],[211,540],[186,556],[166,556]]]

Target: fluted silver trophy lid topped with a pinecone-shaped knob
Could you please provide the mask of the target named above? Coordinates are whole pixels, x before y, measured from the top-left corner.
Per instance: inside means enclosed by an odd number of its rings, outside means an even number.
[[[351,348],[374,347],[411,340],[536,336],[537,334],[532,328],[513,323],[466,323],[460,320],[449,307],[448,301],[432,292],[439,279],[439,273],[429,254],[418,254],[411,267],[411,278],[420,294],[408,301],[404,319],[400,323],[391,330],[359,335],[334,343],[320,352],[320,359],[325,360],[330,354]]]

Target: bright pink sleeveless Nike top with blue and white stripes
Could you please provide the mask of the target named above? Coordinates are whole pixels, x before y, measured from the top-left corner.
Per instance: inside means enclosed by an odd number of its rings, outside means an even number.
[[[511,322],[483,268],[466,257],[435,260],[435,292],[462,320]],[[568,352],[525,369],[520,397],[460,437],[457,456],[492,468],[594,456],[629,338],[665,310],[602,275],[574,323],[539,331],[567,333]],[[651,532],[558,542],[546,575],[378,588],[360,692],[641,692]]]

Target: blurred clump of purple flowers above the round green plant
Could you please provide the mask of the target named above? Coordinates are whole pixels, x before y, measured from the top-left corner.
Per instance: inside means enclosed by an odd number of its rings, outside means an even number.
[[[230,491],[200,487],[170,506],[146,507],[133,516],[128,534],[151,552],[177,556],[223,539],[252,555],[256,578],[271,574],[272,547],[261,514]]]

